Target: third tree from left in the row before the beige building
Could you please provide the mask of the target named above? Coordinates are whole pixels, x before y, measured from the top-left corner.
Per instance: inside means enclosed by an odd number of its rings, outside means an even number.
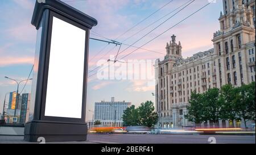
[[[234,100],[237,95],[237,89],[234,89],[232,85],[224,85],[220,91],[220,118],[232,120],[234,127],[234,120],[237,117],[236,101]]]

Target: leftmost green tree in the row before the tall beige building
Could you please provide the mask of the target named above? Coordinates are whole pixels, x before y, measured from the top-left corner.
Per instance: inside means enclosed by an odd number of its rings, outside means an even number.
[[[188,114],[184,115],[188,121],[195,124],[200,124],[204,121],[203,100],[203,94],[197,94],[196,91],[191,93],[191,98],[189,99],[190,106],[187,107]]]

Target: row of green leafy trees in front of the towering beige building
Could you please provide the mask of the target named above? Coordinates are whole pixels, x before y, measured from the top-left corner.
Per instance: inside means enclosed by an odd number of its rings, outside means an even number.
[[[241,87],[224,85],[221,90],[213,88],[203,94],[193,92],[189,103],[185,118],[191,122],[243,119],[246,126],[247,120],[255,120],[255,82]]]

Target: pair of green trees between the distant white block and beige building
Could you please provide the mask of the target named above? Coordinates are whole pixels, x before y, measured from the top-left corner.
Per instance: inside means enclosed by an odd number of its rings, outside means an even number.
[[[135,108],[134,105],[123,111],[123,125],[136,126],[143,125],[152,127],[158,122],[158,114],[155,112],[154,103],[147,101]]]

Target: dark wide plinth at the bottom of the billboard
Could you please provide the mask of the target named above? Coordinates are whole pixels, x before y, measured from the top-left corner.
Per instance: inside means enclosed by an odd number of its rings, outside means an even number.
[[[31,142],[86,141],[87,130],[86,123],[32,121],[25,124],[24,140]]]

